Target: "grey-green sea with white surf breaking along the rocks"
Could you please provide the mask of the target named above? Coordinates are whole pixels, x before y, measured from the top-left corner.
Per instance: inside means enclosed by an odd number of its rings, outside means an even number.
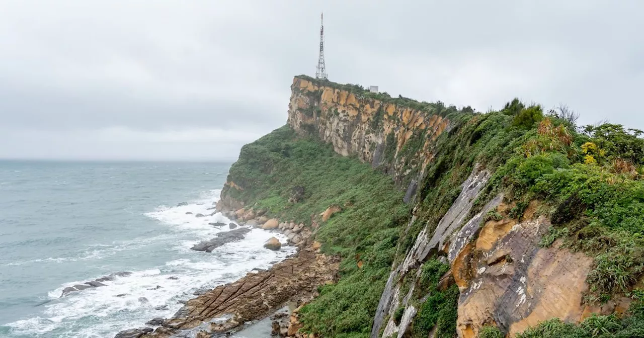
[[[227,230],[208,224],[230,222],[220,213],[195,215],[214,211],[228,168],[0,161],[0,337],[111,338],[294,253],[264,249],[285,238],[261,229],[212,253],[190,250]],[[61,297],[116,272],[131,274]]]

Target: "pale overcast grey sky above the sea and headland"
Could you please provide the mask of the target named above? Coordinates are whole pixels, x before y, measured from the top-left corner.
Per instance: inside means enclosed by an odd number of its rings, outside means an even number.
[[[0,158],[236,159],[314,75],[644,129],[644,1],[0,0]]]

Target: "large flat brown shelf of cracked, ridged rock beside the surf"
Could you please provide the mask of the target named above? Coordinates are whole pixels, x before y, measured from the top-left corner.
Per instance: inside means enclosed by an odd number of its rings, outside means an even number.
[[[317,286],[336,281],[338,268],[337,258],[312,249],[300,250],[270,270],[249,273],[189,300],[155,332],[143,337],[172,337],[178,332],[190,337],[210,337],[227,332],[277,310],[289,300],[310,299]]]

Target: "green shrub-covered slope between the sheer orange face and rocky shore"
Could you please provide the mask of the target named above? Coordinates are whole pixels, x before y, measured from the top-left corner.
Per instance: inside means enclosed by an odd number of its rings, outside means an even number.
[[[320,296],[301,310],[301,320],[304,330],[325,337],[368,336],[399,227],[408,218],[403,193],[395,189],[392,178],[281,127],[242,148],[229,180],[244,188],[229,189],[229,196],[307,225],[328,206],[344,206],[321,224],[316,237],[324,252],[344,258],[341,279],[321,288]],[[299,203],[289,203],[295,186],[304,187],[305,196]],[[358,260],[364,263],[361,269]]]

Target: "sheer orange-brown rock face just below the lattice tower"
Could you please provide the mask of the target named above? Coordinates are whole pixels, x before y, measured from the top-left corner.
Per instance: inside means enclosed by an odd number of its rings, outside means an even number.
[[[448,118],[430,109],[366,97],[332,82],[295,77],[291,90],[290,127],[319,136],[338,154],[383,167],[396,182],[412,182],[410,195],[433,157],[434,141],[450,127]]]

